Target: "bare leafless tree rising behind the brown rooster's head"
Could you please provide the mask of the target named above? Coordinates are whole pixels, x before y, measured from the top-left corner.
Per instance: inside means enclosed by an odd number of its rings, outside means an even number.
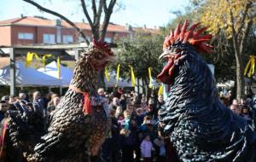
[[[32,0],[23,0],[26,3],[30,3],[33,6],[37,7],[38,9],[49,13],[49,14],[53,14],[59,18],[61,18],[62,20],[66,20],[67,23],[71,26],[73,26],[77,32],[79,32],[81,34],[81,37],[84,38],[85,42],[89,45],[89,41],[88,39],[85,37],[84,33],[82,32],[81,29],[79,29],[78,26],[76,26],[73,21],[68,20],[67,17],[65,17],[62,14],[59,14],[53,10],[50,9],[46,9],[44,8],[42,5],[40,5],[39,3],[36,3],[35,1]],[[88,4],[90,2],[90,5]],[[111,17],[111,14],[113,13],[113,8],[116,4],[117,0],[80,0],[81,3],[81,7],[84,11],[84,16],[86,17],[86,19],[89,22],[90,25],[90,29],[92,32],[92,38],[96,39],[96,40],[104,40],[105,36],[106,36],[106,32],[107,32],[107,28],[108,28],[108,24],[109,24],[109,20]],[[89,8],[92,9],[92,15],[90,16],[90,12],[89,12]],[[103,11],[103,13],[102,13]],[[101,18],[102,15],[104,16],[103,18],[103,22],[101,25]],[[98,75],[98,87],[104,87],[104,75],[103,75],[103,71],[99,72]]]

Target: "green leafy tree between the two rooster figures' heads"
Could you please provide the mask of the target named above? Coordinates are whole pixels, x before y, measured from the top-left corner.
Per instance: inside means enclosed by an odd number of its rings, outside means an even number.
[[[132,38],[119,40],[118,62],[120,76],[131,78],[130,68],[133,67],[136,78],[143,79],[143,84],[148,85],[148,67],[153,67],[152,77],[156,78],[162,69],[158,60],[162,53],[164,37],[160,34],[135,34]],[[116,70],[116,66],[112,67]]]

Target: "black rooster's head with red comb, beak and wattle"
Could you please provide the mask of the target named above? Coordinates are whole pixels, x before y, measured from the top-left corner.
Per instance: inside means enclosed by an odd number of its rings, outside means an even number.
[[[199,52],[206,53],[211,51],[212,46],[207,44],[207,42],[211,40],[212,35],[201,35],[207,27],[202,27],[195,31],[199,24],[196,23],[187,30],[189,23],[185,20],[182,27],[178,24],[175,31],[173,32],[171,30],[170,34],[166,37],[163,44],[164,52],[160,55],[159,59],[165,59],[167,63],[157,76],[160,82],[172,84],[174,68],[185,58],[189,50],[195,49]]]

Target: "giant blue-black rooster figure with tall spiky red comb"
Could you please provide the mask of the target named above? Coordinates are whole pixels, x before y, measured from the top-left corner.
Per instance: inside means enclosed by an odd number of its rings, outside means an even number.
[[[206,30],[185,21],[166,37],[158,79],[169,93],[160,113],[160,132],[169,136],[180,161],[250,161],[255,133],[245,119],[218,99],[207,63],[197,54],[211,51]]]

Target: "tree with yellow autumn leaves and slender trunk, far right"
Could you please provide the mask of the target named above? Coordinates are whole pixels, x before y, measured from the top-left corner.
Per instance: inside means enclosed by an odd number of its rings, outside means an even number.
[[[232,40],[232,50],[236,56],[236,98],[244,96],[243,57],[245,44],[255,19],[253,0],[206,0],[202,4],[201,21],[209,26],[213,35],[224,33]]]

